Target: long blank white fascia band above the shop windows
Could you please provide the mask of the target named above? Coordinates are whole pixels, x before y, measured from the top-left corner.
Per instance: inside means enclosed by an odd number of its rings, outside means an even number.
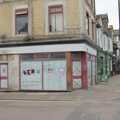
[[[90,47],[85,43],[0,48],[0,54],[25,54],[25,53],[69,52],[69,51],[88,52],[89,54],[95,56],[97,54],[96,49]]]

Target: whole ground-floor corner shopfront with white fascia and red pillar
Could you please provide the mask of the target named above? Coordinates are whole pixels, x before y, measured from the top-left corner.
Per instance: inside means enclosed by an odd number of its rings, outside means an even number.
[[[95,82],[97,52],[85,43],[3,47],[0,54],[7,63],[0,88],[8,91],[72,91]]]

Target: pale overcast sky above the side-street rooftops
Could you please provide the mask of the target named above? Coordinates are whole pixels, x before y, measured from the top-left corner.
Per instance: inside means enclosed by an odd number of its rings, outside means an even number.
[[[104,13],[108,13],[109,24],[118,29],[118,0],[96,0],[96,14]]]

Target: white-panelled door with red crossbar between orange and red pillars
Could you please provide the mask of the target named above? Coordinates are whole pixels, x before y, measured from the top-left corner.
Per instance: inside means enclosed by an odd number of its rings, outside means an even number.
[[[81,88],[81,62],[73,61],[73,88]]]

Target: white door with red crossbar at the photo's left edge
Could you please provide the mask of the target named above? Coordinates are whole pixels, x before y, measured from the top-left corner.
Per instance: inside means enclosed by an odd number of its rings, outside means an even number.
[[[0,64],[0,88],[8,88],[8,64]]]

